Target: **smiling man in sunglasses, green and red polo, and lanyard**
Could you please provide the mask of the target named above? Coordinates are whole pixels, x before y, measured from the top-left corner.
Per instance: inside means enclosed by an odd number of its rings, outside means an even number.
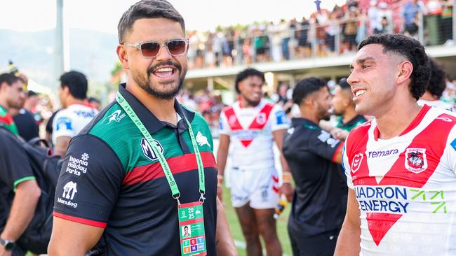
[[[140,1],[121,17],[117,55],[128,80],[69,144],[50,255],[237,254],[217,200],[210,129],[175,100],[187,49],[168,1]]]

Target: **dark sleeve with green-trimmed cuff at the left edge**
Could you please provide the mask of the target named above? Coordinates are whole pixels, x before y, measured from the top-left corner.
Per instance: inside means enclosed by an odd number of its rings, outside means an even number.
[[[24,148],[13,134],[0,128],[0,180],[15,190],[23,181],[34,179]]]

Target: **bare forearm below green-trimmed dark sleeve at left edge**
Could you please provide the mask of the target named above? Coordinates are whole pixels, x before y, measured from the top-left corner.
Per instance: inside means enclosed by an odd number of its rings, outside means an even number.
[[[32,183],[33,185],[18,185],[5,229],[0,235],[2,239],[18,240],[33,218],[41,190],[39,190],[35,180],[27,180],[24,183]]]

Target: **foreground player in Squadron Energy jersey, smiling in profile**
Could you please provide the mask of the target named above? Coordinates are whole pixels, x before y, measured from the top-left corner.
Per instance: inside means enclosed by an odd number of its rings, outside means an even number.
[[[375,119],[344,145],[350,189],[335,255],[456,255],[456,117],[417,104],[429,76],[413,38],[358,46],[347,80],[356,111]]]

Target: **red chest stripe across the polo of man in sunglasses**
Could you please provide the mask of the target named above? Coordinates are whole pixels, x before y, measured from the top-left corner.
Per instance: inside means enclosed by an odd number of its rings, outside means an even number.
[[[203,160],[203,166],[205,168],[217,168],[217,164],[215,164],[215,159],[212,152],[201,152],[201,159]],[[166,159],[166,162],[168,162],[168,165],[173,174],[198,169],[195,154],[170,157]],[[164,176],[165,174],[163,173],[160,162],[156,162],[153,164],[138,166],[133,168],[133,170],[128,171],[127,175],[123,179],[123,185],[133,185],[148,180],[154,180],[156,178],[162,178]]]

